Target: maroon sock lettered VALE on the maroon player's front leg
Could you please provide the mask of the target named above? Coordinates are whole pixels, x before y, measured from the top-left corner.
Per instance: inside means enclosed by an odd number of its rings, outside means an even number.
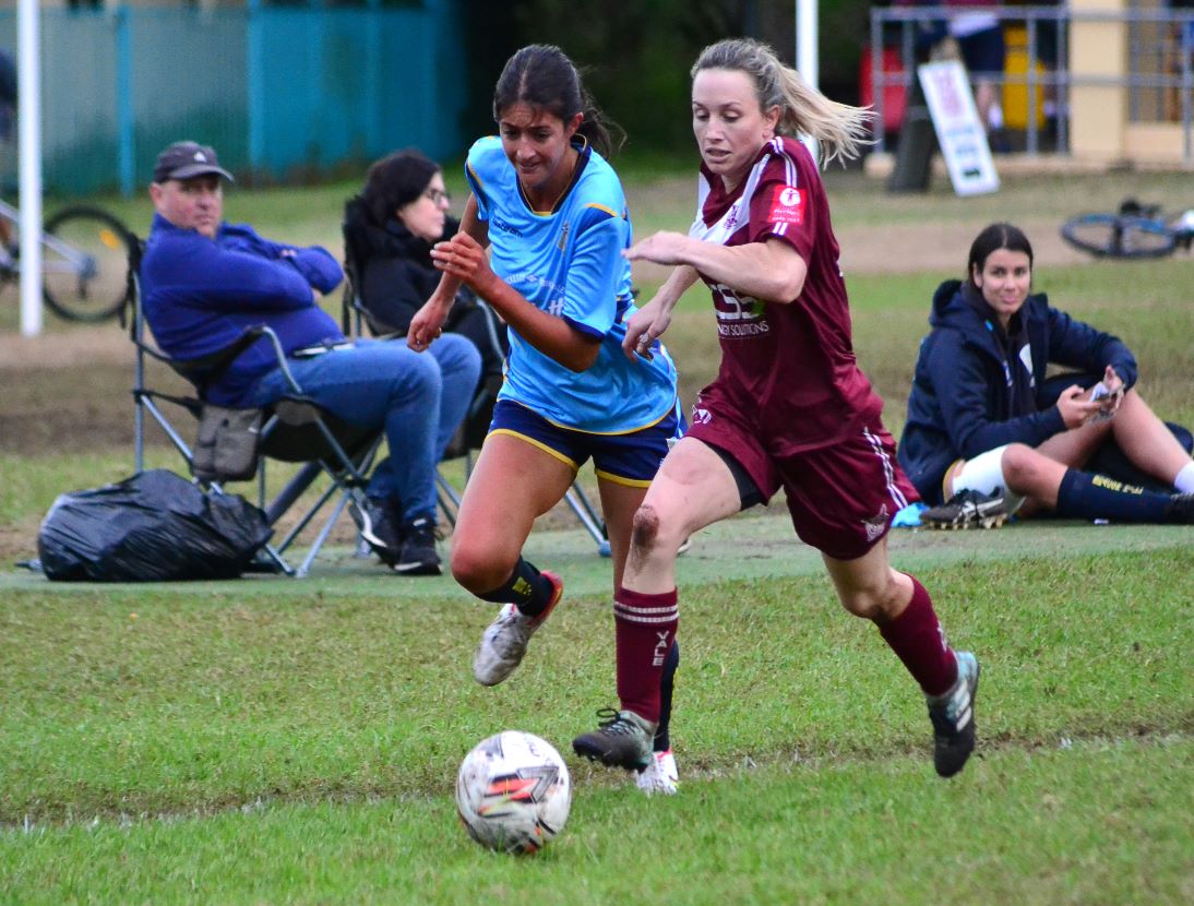
[[[678,622],[675,588],[663,594],[618,588],[614,594],[617,697],[623,711],[659,721],[659,680]]]

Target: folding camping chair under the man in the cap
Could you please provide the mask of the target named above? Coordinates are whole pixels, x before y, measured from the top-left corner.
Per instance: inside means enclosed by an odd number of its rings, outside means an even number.
[[[382,431],[363,430],[337,418],[333,413],[318,406],[303,396],[302,387],[295,380],[287,364],[287,357],[277,334],[264,325],[245,331],[233,344],[199,359],[179,360],[165,355],[156,344],[147,338],[144,315],[141,308],[140,265],[143,244],[133,242],[129,260],[129,294],[127,313],[129,334],[136,346],[136,368],[133,387],[135,418],[135,468],[144,467],[146,425],[148,415],[165,432],[173,448],[186,462],[191,474],[214,493],[224,493],[223,485],[230,480],[256,477],[258,506],[265,511],[266,522],[277,526],[282,518],[304,498],[316,480],[326,476],[330,481],[326,488],[318,489],[314,503],[304,512],[281,541],[264,548],[266,562],[271,567],[291,577],[303,577],[310,569],[315,556],[322,549],[336,523],[345,510],[356,522],[357,529],[367,531],[369,516],[364,506],[364,488],[367,475],[373,467],[377,448],[381,444]],[[257,430],[256,450],[250,456],[250,464],[244,472],[235,467],[238,474],[221,472],[221,464],[197,463],[198,444],[189,444],[181,429],[177,427],[166,415],[161,403],[173,408],[185,409],[198,425],[219,421],[211,415],[221,415],[227,409],[213,407],[205,400],[207,388],[250,346],[256,343],[269,343],[278,360],[278,366],[285,375],[291,393],[277,403],[259,411],[239,411],[250,415]],[[178,395],[149,386],[147,362],[152,359],[167,365],[181,376],[192,388],[191,395]],[[254,425],[247,430],[253,431]],[[266,493],[266,461],[302,463],[297,473],[272,498]],[[301,560],[293,563],[289,559],[300,535],[316,517],[324,514],[321,525]]]

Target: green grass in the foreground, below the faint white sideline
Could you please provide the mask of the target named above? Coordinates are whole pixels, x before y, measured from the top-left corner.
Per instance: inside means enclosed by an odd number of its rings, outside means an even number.
[[[443,797],[101,822],[5,849],[25,904],[1182,902],[1189,825],[1157,803],[1192,756],[1177,739],[996,751],[949,784],[907,757],[770,765],[650,808],[587,788],[523,859],[479,850]]]

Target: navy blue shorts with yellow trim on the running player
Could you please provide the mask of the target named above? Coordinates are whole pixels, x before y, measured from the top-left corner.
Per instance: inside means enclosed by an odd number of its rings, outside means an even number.
[[[556,425],[510,400],[493,407],[490,434],[509,434],[537,446],[579,472],[593,461],[597,477],[630,487],[647,487],[667,455],[667,442],[684,433],[673,407],[653,425],[626,434],[593,434]]]

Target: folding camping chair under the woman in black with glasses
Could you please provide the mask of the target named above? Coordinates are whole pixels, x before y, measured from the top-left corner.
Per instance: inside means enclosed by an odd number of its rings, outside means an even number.
[[[364,204],[359,196],[349,198],[344,205],[344,223],[341,224],[344,232],[344,272],[346,276],[344,283],[344,301],[343,301],[343,314],[341,314],[341,329],[346,335],[362,335],[364,327],[369,328],[369,332],[378,338],[396,337],[398,334],[393,331],[389,325],[381,322],[374,313],[369,309],[368,303],[361,295],[362,275],[364,273],[365,259],[362,254],[362,249],[365,247],[365,242],[361,238],[362,230],[365,229],[365,218],[368,214],[364,210]],[[501,319],[498,318],[497,313],[485,302],[485,300],[475,300],[475,304],[481,308],[485,313],[487,333],[490,341],[493,344],[496,350],[500,350],[500,355],[505,355],[505,344],[503,343],[503,331],[505,329]],[[473,466],[473,451],[479,450],[481,444],[485,442],[485,434],[490,427],[490,419],[493,413],[493,403],[497,401],[498,390],[501,387],[500,380],[498,381],[486,381],[476,390],[472,403],[468,408],[468,414],[464,417],[464,421],[461,425],[460,431],[456,437],[449,443],[448,449],[444,451],[443,461],[464,458],[464,477],[468,480],[468,475],[472,472]],[[436,472],[436,483],[439,498],[439,509],[444,513],[444,518],[451,525],[456,524],[456,512],[460,509],[460,492],[453,487],[451,482],[444,477],[442,470]],[[581,526],[597,543],[597,553],[602,556],[610,555],[609,547],[609,535],[605,531],[605,520],[602,518],[601,513],[589,500],[589,495],[581,487],[580,482],[577,481],[568,488],[567,493],[564,495],[565,503],[568,509],[579,519]]]

